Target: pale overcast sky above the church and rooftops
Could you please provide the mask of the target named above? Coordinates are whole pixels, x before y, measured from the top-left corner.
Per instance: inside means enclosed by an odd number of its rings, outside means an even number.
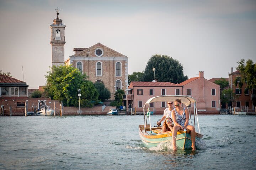
[[[100,42],[129,57],[128,74],[156,53],[178,60],[188,78],[228,78],[241,59],[256,62],[255,0],[0,0],[0,70],[24,74],[29,88],[46,84],[57,7],[65,60]]]

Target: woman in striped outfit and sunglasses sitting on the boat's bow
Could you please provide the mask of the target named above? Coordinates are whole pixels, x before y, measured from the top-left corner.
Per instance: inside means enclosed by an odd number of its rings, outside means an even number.
[[[174,101],[174,106],[176,110],[172,111],[172,120],[174,121],[174,128],[172,130],[172,147],[173,150],[177,150],[176,147],[176,136],[178,130],[184,130],[189,129],[190,130],[190,136],[191,136],[191,142],[192,142],[192,149],[193,151],[196,150],[195,146],[195,140],[196,140],[196,131],[194,129],[194,126],[191,126],[188,123],[189,118],[189,112],[187,108],[181,107],[181,100],[176,99]]]

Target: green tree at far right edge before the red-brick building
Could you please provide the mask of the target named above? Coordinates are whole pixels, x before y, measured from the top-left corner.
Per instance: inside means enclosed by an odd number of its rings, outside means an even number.
[[[236,69],[239,70],[241,74],[239,88],[245,83],[250,90],[256,88],[256,64],[251,59],[248,59],[246,62],[244,59],[241,59],[238,62],[238,67],[236,67]]]

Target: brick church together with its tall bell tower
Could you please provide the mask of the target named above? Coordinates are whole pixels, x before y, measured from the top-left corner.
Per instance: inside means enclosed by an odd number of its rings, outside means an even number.
[[[89,48],[74,48],[74,55],[64,62],[65,25],[58,17],[50,25],[52,30],[52,66],[66,65],[78,68],[82,74],[87,75],[87,79],[95,83],[96,81],[105,84],[111,92],[111,100],[114,93],[128,88],[128,57],[110,49],[109,47],[97,43]]]

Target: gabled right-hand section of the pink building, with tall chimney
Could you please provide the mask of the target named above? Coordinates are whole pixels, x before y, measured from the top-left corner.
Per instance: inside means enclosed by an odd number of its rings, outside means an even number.
[[[196,99],[198,111],[219,113],[220,86],[205,79],[204,72],[199,72],[199,77],[190,78],[178,85],[183,86],[183,95]]]

